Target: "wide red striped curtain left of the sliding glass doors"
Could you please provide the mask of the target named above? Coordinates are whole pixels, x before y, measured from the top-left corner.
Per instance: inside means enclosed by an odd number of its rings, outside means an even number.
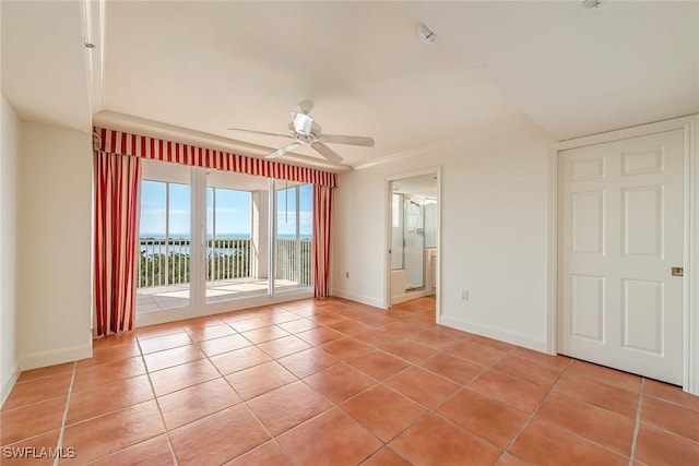
[[[127,332],[135,315],[141,159],[95,151],[95,335]]]

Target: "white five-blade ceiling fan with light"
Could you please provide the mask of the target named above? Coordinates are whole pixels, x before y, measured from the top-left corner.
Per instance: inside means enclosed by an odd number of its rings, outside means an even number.
[[[342,134],[323,134],[320,126],[313,121],[308,115],[312,108],[310,101],[301,101],[298,104],[298,110],[292,113],[292,122],[288,123],[288,134],[269,133],[265,131],[246,130],[242,128],[228,128],[230,131],[245,131],[254,134],[264,134],[268,136],[288,138],[294,141],[280,147],[264,158],[277,158],[300,145],[310,145],[312,150],[322,155],[330,162],[342,162],[342,157],[325,143],[330,144],[348,144],[360,145],[364,147],[372,147],[374,139],[367,136],[346,136]]]

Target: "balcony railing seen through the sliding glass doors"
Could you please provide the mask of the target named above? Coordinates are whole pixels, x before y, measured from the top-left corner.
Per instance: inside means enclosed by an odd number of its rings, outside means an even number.
[[[140,239],[137,276],[139,288],[187,284],[190,280],[189,239]],[[206,240],[206,280],[249,278],[251,240]],[[276,279],[311,285],[310,239],[276,240]]]

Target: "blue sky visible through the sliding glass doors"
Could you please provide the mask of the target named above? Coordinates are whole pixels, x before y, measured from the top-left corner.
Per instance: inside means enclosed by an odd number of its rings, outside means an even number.
[[[143,180],[141,183],[141,232],[165,235],[166,183]],[[190,187],[169,183],[169,232],[170,237],[190,234]],[[299,190],[298,215],[301,237],[312,231],[312,186],[304,184]],[[213,232],[213,189],[206,189],[206,235]],[[248,191],[215,189],[216,195],[216,236],[250,236],[251,194]],[[296,232],[296,193],[295,188],[277,191],[277,235]]]

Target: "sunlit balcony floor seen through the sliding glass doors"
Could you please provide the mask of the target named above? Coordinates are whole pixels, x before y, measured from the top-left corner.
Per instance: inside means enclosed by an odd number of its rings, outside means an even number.
[[[297,282],[275,279],[277,290],[291,290],[301,288]],[[189,284],[152,286],[139,288],[135,294],[135,312],[156,312],[166,309],[185,308],[189,306]],[[244,296],[265,295],[268,288],[266,278],[235,278],[206,283],[206,303],[229,301]]]

